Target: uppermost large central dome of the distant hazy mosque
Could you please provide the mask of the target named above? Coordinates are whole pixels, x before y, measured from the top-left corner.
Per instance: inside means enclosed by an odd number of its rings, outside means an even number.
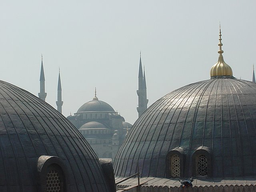
[[[91,112],[91,111],[111,111],[114,109],[104,101],[92,100],[83,104],[77,112]]]

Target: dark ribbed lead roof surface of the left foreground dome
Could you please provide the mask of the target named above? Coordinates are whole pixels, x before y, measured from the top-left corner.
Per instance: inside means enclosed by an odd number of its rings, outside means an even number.
[[[76,128],[46,102],[0,81],[0,191],[38,191],[42,155],[64,162],[67,191],[109,191],[98,158]]]

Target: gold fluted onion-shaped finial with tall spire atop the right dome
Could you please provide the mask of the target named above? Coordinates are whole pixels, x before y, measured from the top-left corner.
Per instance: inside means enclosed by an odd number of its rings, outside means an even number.
[[[223,56],[222,56],[222,53],[223,53],[223,50],[222,50],[222,42],[221,42],[221,30],[220,30],[220,34],[219,34],[220,38],[219,38],[219,44],[218,46],[220,47],[220,49],[218,50],[218,54],[219,55],[219,58],[218,58],[218,62],[212,66],[211,70],[210,70],[210,77],[211,79],[214,79],[214,78],[234,78],[233,77],[233,72],[232,72],[232,69],[231,67],[226,64],[224,62],[224,59],[223,59]]]

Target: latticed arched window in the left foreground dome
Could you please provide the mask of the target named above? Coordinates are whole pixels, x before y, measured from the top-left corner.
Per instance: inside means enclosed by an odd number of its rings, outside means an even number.
[[[47,173],[46,192],[61,192],[60,176],[56,170],[50,170]]]

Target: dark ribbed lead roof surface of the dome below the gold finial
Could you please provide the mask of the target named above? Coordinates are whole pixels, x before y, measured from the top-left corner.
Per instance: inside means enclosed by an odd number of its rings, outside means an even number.
[[[256,84],[213,79],[189,84],[157,100],[134,123],[115,160],[117,177],[136,172],[166,177],[166,155],[184,151],[184,177],[192,154],[207,148],[213,177],[256,175]]]

